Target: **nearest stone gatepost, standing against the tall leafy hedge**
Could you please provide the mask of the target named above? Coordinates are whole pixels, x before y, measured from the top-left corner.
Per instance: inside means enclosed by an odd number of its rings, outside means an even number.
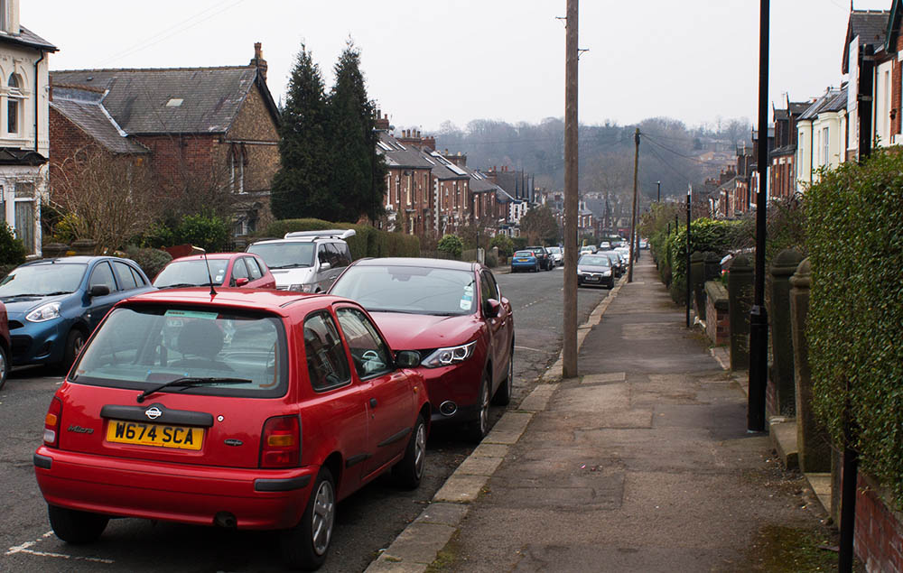
[[[809,345],[805,338],[811,280],[812,267],[809,259],[804,259],[790,277],[789,294],[796,384],[796,448],[800,469],[804,472],[827,472],[831,469],[831,446],[824,430],[815,422],[812,411],[812,374],[809,371]]]

